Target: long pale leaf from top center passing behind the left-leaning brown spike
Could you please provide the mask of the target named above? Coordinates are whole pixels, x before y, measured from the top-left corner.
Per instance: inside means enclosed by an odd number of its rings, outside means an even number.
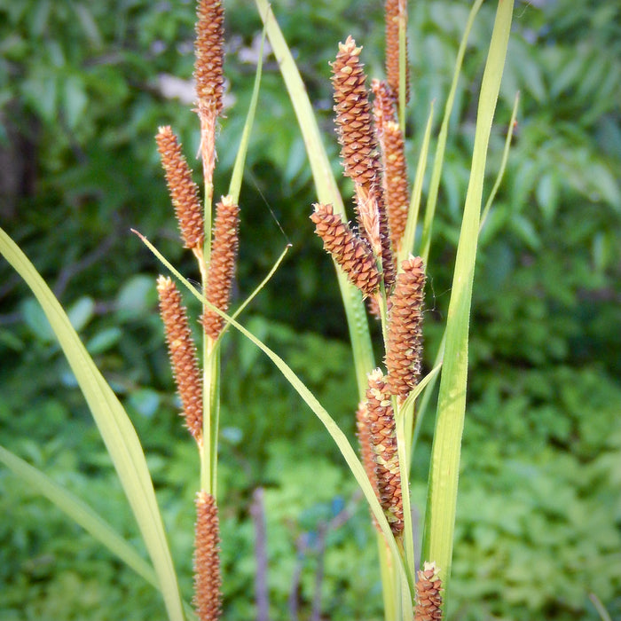
[[[279,25],[276,22],[267,0],[255,0],[263,25],[270,39],[271,49],[279,64],[280,73],[285,81],[289,98],[295,109],[295,115],[302,131],[306,153],[311,163],[311,171],[319,202],[331,203],[335,214],[345,216],[341,194],[332,173],[330,161],[327,158],[319,132],[317,120],[313,113],[306,87],[295,66],[295,60],[287,46]],[[375,366],[373,348],[369,334],[368,320],[362,296],[356,287],[347,279],[343,271],[334,264],[336,276],[341,289],[345,315],[350,330],[351,348],[356,367],[358,382],[358,397],[364,398],[366,391],[366,373]]]

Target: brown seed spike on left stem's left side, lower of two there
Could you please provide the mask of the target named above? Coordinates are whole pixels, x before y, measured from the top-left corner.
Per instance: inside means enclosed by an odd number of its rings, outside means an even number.
[[[169,346],[170,366],[184,408],[185,425],[197,442],[202,436],[202,382],[199,362],[181,294],[172,279],[157,280],[160,314]]]

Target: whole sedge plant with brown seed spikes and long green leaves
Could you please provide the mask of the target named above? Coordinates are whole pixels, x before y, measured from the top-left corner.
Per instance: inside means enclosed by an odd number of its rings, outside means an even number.
[[[192,171],[173,130],[168,126],[161,127],[156,141],[183,244],[193,252],[197,261],[200,289],[193,287],[140,235],[175,277],[161,276],[157,280],[157,290],[185,425],[200,454],[194,553],[195,614],[201,620],[213,621],[222,611],[216,487],[219,346],[224,332],[234,328],[271,359],[318,416],[364,492],[377,533],[385,618],[389,621],[443,618],[444,602],[450,594],[457,473],[468,379],[468,318],[483,201],[483,176],[513,3],[499,0],[498,4],[479,94],[475,144],[445,334],[441,348],[436,352],[436,365],[424,377],[421,377],[421,318],[444,145],[461,59],[482,0],[473,5],[460,47],[452,91],[447,98],[437,137],[422,225],[419,213],[433,126],[433,106],[410,188],[405,161],[405,119],[408,92],[415,88],[415,84],[410,83],[407,69],[405,0],[386,2],[385,79],[368,83],[362,46],[350,36],[343,37],[345,43],[339,44],[332,64],[335,123],[344,173],[354,186],[355,225],[350,225],[346,216],[311,102],[293,56],[266,0],[255,0],[255,4],[279,61],[311,162],[318,195],[311,221],[336,267],[358,381],[358,406],[352,407],[352,422],[356,421],[359,446],[356,449],[350,444],[342,429],[287,363],[238,322],[236,317],[245,304],[233,316],[227,314],[238,246],[240,175],[255,114],[261,71],[259,66],[253,104],[231,189],[216,201],[214,209],[216,127],[223,110],[224,9],[217,0],[199,0],[194,76],[196,112],[200,122],[202,202],[200,189],[193,182]],[[421,231],[418,239],[417,231]],[[120,476],[151,556],[151,564],[142,562],[136,551],[100,516],[50,483],[43,473],[1,447],[0,460],[43,491],[158,588],[170,619],[193,617],[194,613],[179,595],[153,483],[129,417],[98,373],[66,313],[32,264],[4,232],[0,232],[0,250],[42,303],[58,335]],[[193,342],[191,319],[185,311],[177,282],[202,304],[200,348]],[[379,362],[373,357],[369,320],[380,322],[384,350]],[[436,428],[419,562],[414,557],[409,494],[413,473],[410,464],[422,413],[427,408],[430,389],[438,378]],[[421,404],[417,405],[416,400],[422,394]]]

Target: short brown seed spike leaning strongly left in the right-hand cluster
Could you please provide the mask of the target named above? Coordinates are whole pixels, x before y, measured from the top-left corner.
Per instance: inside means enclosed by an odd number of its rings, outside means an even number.
[[[324,242],[324,248],[363,295],[377,293],[380,272],[366,241],[358,238],[341,216],[334,214],[332,205],[316,203],[313,207],[315,211],[311,220],[315,224],[315,232]]]

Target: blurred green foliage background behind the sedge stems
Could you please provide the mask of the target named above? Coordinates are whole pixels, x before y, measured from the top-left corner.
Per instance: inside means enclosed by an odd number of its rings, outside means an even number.
[[[230,97],[216,195],[228,185],[261,34],[250,4],[224,4]],[[338,171],[327,62],[352,34],[365,45],[369,75],[382,75],[381,3],[281,0],[273,7]],[[468,8],[411,7],[412,169],[429,103],[444,105]],[[429,262],[428,365],[444,325],[492,16],[493,6],[483,5],[452,116]],[[185,153],[197,151],[191,105],[164,90],[169,78],[192,74],[193,21],[190,2],[0,0],[0,224],[51,283],[128,406],[188,599],[198,463],[177,420],[155,311],[159,267],[129,229],[197,278],[177,243],[153,142],[158,125],[170,123]],[[595,619],[588,593],[613,618],[621,615],[619,42],[615,3],[517,4],[490,180],[516,90],[521,112],[476,272],[452,619]],[[241,193],[237,295],[248,295],[293,244],[244,320],[352,435],[356,389],[333,269],[308,219],[310,171],[273,60],[263,75]],[[4,262],[0,301],[0,442],[138,538],[75,380]],[[309,617],[318,532],[353,503],[350,519],[327,532],[322,612],[380,618],[366,507],[325,431],[235,334],[223,363],[224,618],[255,617],[249,507],[258,485],[266,488],[272,617],[291,617],[287,598],[298,570],[299,614]],[[419,511],[431,419],[413,461]],[[1,618],[162,617],[151,587],[4,470],[0,515]]]

